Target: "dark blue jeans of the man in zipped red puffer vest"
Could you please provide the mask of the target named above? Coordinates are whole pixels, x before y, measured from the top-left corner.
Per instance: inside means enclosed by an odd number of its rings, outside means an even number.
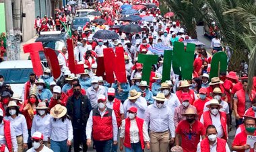
[[[108,141],[94,141],[94,145],[97,152],[110,152],[112,148],[112,143],[113,139]]]

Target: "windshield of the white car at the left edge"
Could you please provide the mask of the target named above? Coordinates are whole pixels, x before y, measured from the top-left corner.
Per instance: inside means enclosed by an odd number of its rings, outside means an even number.
[[[33,72],[32,68],[20,69],[0,69],[1,75],[5,78],[5,83],[25,83],[29,79],[30,73]]]

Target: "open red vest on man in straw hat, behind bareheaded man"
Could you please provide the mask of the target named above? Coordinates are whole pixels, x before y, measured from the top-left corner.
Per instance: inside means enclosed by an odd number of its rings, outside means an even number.
[[[226,130],[226,113],[225,112],[220,112],[220,122],[222,124],[222,129],[224,132],[224,137],[222,137],[222,139],[227,140],[228,137],[228,132]],[[207,126],[209,125],[214,125],[212,123],[212,118],[211,118],[211,113],[210,110],[207,112],[203,112],[203,126],[205,127],[205,129],[207,128]]]

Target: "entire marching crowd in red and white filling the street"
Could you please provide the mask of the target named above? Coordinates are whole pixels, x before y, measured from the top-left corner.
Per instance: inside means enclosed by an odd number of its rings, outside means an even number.
[[[136,22],[142,32],[123,33],[116,29],[117,40],[93,38],[98,30],[129,24],[119,20],[121,13],[115,8],[146,2],[98,3],[97,10],[104,12],[100,17],[106,22],[88,23],[82,34],[72,34],[75,61],[84,64],[84,73],[75,75],[69,71],[69,56],[63,47],[58,54],[61,76],[54,79],[48,68],[40,76],[30,73],[21,97],[0,75],[1,151],[65,152],[73,147],[77,152],[81,146],[82,151],[92,146],[97,152],[228,152],[232,112],[237,129],[231,150],[256,151],[256,144],[252,147],[247,143],[248,135],[256,136],[256,93],[254,89],[248,91],[247,73],[220,71],[220,77],[210,79],[212,57],[205,48],[197,47],[193,79],[182,80],[171,69],[170,80],[162,81],[162,56],[152,65],[150,83],[141,79],[143,64],[137,63],[138,54],[154,54],[149,49],[153,44],[172,48],[175,41],[190,39],[178,20],[161,16],[158,7],[143,7],[139,15],[153,20]],[[159,6],[158,1],[151,2]],[[113,9],[103,9],[106,7]],[[63,9],[63,18],[69,9]],[[59,15],[57,20],[63,20],[58,18]],[[38,31],[40,17],[37,20]],[[52,20],[44,17],[42,24]],[[59,24],[56,19],[55,23]],[[127,82],[116,79],[110,84],[96,76],[97,67],[102,66],[97,62],[104,55],[104,48],[115,50],[117,46],[125,50]],[[211,46],[213,54],[222,51],[217,34]]]

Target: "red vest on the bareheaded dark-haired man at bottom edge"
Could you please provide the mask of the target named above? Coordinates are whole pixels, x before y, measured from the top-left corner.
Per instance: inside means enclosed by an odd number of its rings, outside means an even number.
[[[209,139],[203,139],[200,143],[201,152],[210,152]],[[226,152],[226,141],[224,139],[217,138],[217,148],[218,152]]]

